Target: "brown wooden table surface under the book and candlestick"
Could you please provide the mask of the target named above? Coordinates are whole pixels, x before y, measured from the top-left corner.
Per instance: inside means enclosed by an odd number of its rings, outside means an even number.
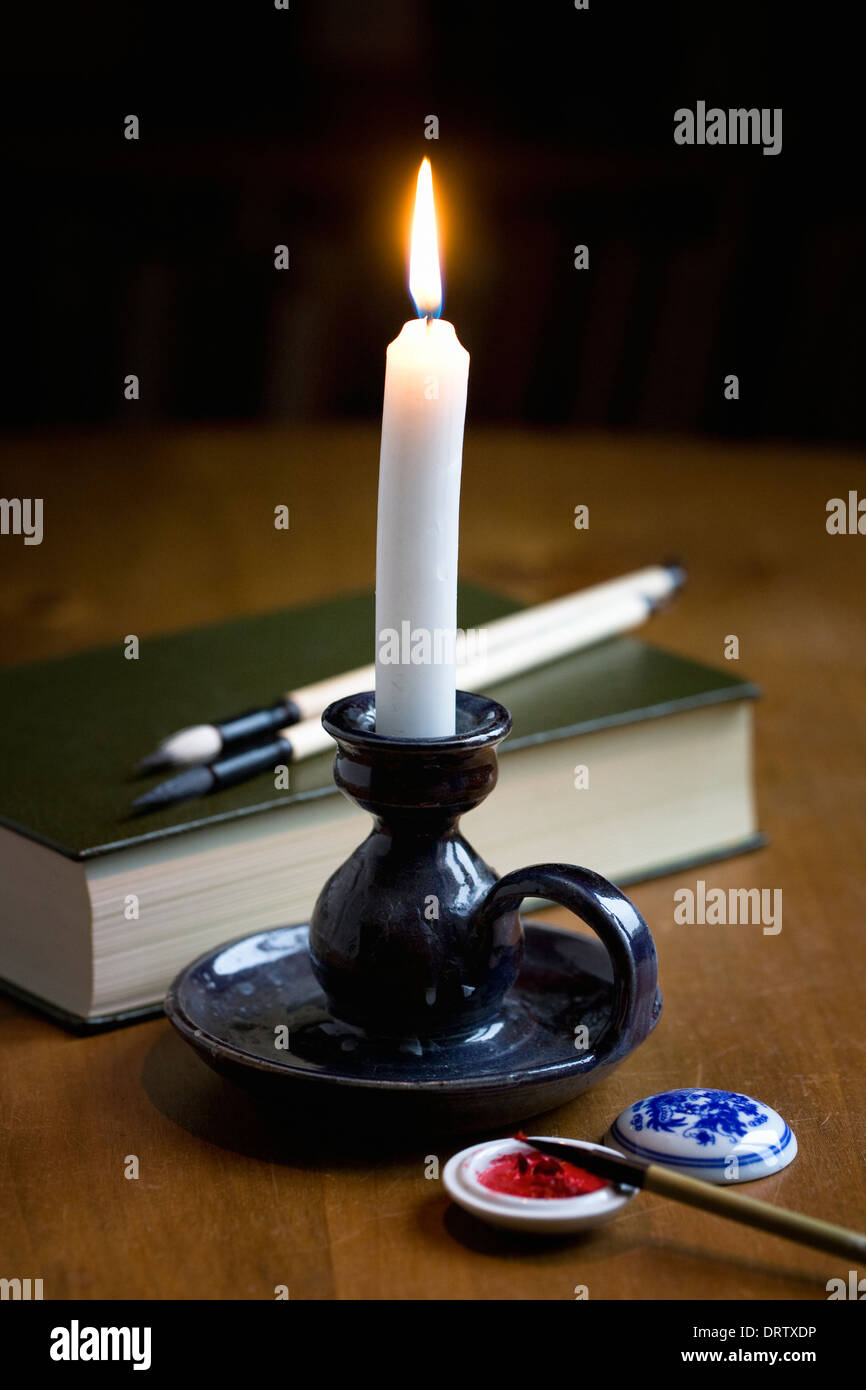
[[[354,425],[8,442],[0,492],[44,499],[44,541],[0,538],[1,659],[370,587],[377,449]],[[827,499],[858,486],[853,453],[470,424],[461,571],[541,600],[680,556],[689,584],[652,637],[721,663],[737,634],[765,689],[770,847],[630,890],[659,948],[662,1022],[539,1130],[595,1138],[652,1091],[746,1091],[799,1141],[748,1193],[862,1229],[866,538],[824,524]],[[674,924],[674,888],[696,877],[781,888],[783,931]],[[571,1300],[585,1284],[591,1298],[823,1300],[848,1273],[652,1195],[581,1238],[525,1244],[456,1211],[424,1176],[424,1145],[304,1151],[164,1019],[75,1038],[3,999],[0,1020],[0,1275],[42,1277],[46,1298],[272,1298],[286,1284],[292,1298]]]

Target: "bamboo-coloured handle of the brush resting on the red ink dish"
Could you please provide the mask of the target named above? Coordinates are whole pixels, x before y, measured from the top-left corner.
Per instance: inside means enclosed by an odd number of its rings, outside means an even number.
[[[785,1207],[773,1207],[771,1202],[760,1202],[755,1197],[744,1197],[741,1193],[716,1187],[696,1177],[685,1177],[659,1163],[646,1166],[644,1190],[714,1212],[716,1216],[727,1216],[728,1220],[738,1220],[744,1226],[756,1226],[759,1230],[773,1232],[774,1236],[798,1240],[802,1245],[815,1245],[816,1250],[826,1250],[831,1255],[866,1259],[866,1236],[855,1230],[817,1220],[815,1216],[801,1216],[799,1212],[788,1211]]]

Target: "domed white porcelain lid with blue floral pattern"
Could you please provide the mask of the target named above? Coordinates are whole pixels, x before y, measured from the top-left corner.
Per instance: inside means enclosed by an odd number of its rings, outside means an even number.
[[[767,1177],[796,1155],[794,1131],[777,1111],[738,1091],[705,1087],[635,1101],[613,1122],[605,1143],[708,1183]]]

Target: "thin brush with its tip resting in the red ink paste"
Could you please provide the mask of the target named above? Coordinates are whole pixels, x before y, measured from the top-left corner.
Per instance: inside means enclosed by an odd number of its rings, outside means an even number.
[[[524,1138],[523,1134],[518,1137]],[[537,1148],[539,1154],[548,1154],[550,1158],[560,1158],[571,1163],[577,1162],[588,1173],[606,1177],[612,1183],[642,1187],[646,1193],[657,1193],[659,1197],[670,1197],[671,1201],[699,1207],[716,1216],[726,1216],[727,1220],[738,1220],[744,1226],[769,1230],[774,1236],[784,1236],[785,1240],[796,1240],[801,1245],[815,1245],[816,1250],[826,1250],[831,1255],[866,1259],[866,1236],[860,1236],[856,1230],[834,1226],[816,1216],[802,1216],[799,1212],[792,1212],[785,1207],[773,1207],[771,1202],[762,1202],[755,1197],[742,1197],[741,1193],[733,1193],[727,1187],[717,1187],[699,1177],[676,1173],[673,1169],[664,1168],[663,1163],[645,1163],[641,1159],[620,1156],[610,1150],[599,1152],[596,1145],[577,1138],[556,1143],[556,1140],[525,1136],[525,1143]]]

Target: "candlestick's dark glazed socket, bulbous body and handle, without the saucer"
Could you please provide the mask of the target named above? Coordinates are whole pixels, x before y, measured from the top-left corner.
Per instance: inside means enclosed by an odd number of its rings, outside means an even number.
[[[375,733],[375,695],[336,701],[334,780],[375,817],[368,838],[322,888],[310,958],[332,1013],[374,1037],[460,1036],[492,1019],[520,969],[520,902],[549,897],[607,947],[630,1023],[655,1004],[656,956],[631,902],[585,869],[537,865],[498,880],[460,834],[463,812],[496,785],[509,712],[457,692],[449,738]],[[624,1024],[626,1017],[620,1022]]]

